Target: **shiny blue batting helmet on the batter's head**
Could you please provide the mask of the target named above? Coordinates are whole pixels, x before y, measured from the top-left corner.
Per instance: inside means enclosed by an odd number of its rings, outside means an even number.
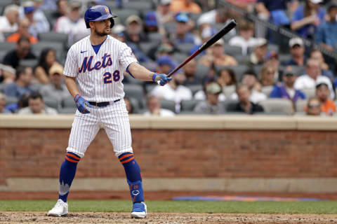
[[[111,14],[111,10],[107,6],[93,6],[86,10],[86,14],[84,14],[84,20],[86,21],[86,28],[90,28],[89,22],[90,21],[101,21],[110,19],[112,28],[114,26],[114,19],[117,17],[116,15]]]

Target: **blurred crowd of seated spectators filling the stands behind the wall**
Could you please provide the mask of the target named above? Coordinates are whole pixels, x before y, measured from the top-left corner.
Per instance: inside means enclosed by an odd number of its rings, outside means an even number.
[[[0,113],[74,113],[62,75],[67,49],[89,34],[86,8],[117,15],[111,35],[138,61],[169,73],[232,18],[233,29],[159,87],[124,74],[129,113],[336,115],[336,62],[304,39],[337,49],[337,2],[227,0],[295,32],[287,47],[261,24],[217,0],[0,2]],[[218,0],[225,1],[225,0]],[[279,34],[281,35],[281,34]]]

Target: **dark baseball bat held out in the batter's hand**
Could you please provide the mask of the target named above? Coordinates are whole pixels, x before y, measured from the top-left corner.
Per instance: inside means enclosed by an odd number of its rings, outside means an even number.
[[[225,25],[225,27],[223,27],[222,29],[220,29],[220,31],[218,31],[218,33],[216,33],[213,36],[211,36],[211,38],[209,38],[208,41],[206,41],[203,45],[201,45],[201,47],[196,52],[194,52],[190,57],[187,57],[187,59],[185,59],[185,61],[181,62],[176,67],[176,69],[173,69],[173,71],[171,71],[167,75],[167,77],[172,76],[173,73],[175,73],[176,71],[178,71],[179,69],[181,69],[181,67],[183,67],[185,64],[187,64],[187,62],[190,62],[190,60],[192,60],[195,56],[199,55],[201,52],[203,52],[204,50],[206,50],[207,48],[209,48],[211,45],[213,45],[213,43],[216,43],[216,41],[218,41],[220,38],[222,38],[223,36],[225,36],[225,34],[227,34],[229,31],[231,31],[236,26],[237,26],[237,21],[230,20],[230,22],[227,23],[227,25]]]

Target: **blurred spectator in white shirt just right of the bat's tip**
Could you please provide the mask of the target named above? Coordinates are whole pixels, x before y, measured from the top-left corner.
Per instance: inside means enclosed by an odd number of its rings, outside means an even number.
[[[232,37],[229,44],[242,48],[242,55],[247,55],[248,48],[258,45],[258,38],[253,37],[253,35],[253,23],[242,20],[242,22],[239,23],[239,36]]]

